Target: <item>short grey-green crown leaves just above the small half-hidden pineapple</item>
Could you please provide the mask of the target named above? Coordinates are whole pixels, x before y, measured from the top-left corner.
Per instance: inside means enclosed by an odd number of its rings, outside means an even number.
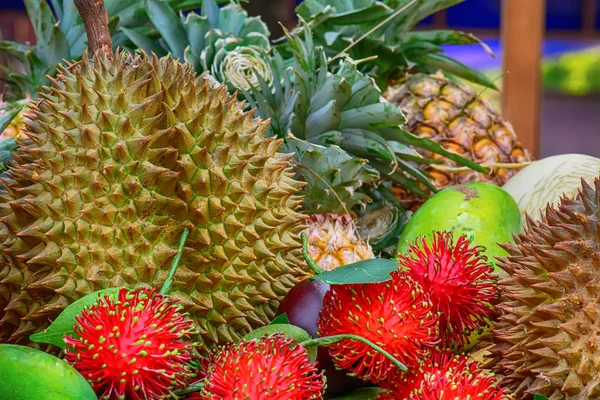
[[[287,150],[296,155],[296,179],[306,182],[302,209],[309,214],[343,214],[371,201],[361,192],[379,184],[379,173],[368,161],[352,157],[338,146],[319,146],[289,136]]]

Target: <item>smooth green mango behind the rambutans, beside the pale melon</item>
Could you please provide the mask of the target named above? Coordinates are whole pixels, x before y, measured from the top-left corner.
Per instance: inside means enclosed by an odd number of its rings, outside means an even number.
[[[422,235],[450,231],[455,240],[472,236],[473,245],[485,247],[484,254],[495,266],[495,257],[507,255],[498,243],[512,243],[519,233],[520,212],[514,199],[502,188],[472,182],[444,189],[427,200],[410,219],[400,236],[398,251],[404,253]]]

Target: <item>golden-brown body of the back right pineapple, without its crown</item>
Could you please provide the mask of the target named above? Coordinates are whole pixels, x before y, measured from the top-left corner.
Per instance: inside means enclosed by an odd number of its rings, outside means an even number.
[[[384,97],[405,113],[408,131],[478,164],[531,161],[511,124],[489,102],[469,86],[453,83],[442,73],[409,75],[388,86]],[[442,158],[423,149],[417,151],[426,158]],[[447,158],[444,164],[458,166]],[[492,168],[488,174],[473,170],[446,172],[433,166],[424,169],[438,189],[474,181],[502,186],[518,172],[516,168]],[[402,187],[395,186],[393,191],[407,209],[415,210],[423,203],[422,198]]]

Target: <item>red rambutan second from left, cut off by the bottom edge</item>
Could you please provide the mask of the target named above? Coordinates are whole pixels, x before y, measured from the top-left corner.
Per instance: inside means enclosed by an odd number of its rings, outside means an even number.
[[[325,391],[306,349],[281,334],[222,348],[204,382],[202,400],[316,400]]]

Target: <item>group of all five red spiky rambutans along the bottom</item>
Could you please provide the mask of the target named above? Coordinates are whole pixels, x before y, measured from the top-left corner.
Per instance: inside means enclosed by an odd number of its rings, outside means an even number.
[[[499,293],[483,248],[464,236],[455,244],[446,232],[431,239],[399,255],[386,282],[331,285],[319,336],[354,335],[376,345],[350,336],[327,349],[336,367],[386,389],[378,400],[513,399],[493,375],[450,351],[492,317]],[[203,388],[188,399],[323,398],[323,372],[283,334],[221,347],[195,365],[193,323],[180,309],[148,289],[106,296],[77,319],[78,336],[65,339],[67,360],[107,400],[165,398],[192,382]]]

